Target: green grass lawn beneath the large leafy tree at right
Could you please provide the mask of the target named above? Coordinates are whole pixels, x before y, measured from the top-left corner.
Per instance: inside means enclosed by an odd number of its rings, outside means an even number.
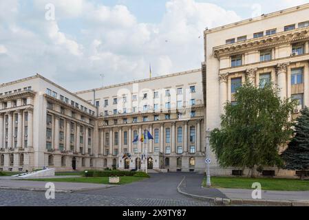
[[[252,189],[254,182],[262,185],[262,190],[309,191],[309,180],[272,179],[272,178],[244,178],[244,177],[211,177],[213,188],[244,188]],[[203,181],[206,186],[206,178]]]

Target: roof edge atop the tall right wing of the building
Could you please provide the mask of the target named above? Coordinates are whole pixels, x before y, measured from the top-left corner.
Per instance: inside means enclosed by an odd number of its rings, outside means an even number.
[[[239,26],[239,25],[244,25],[244,24],[247,24],[247,23],[255,22],[255,21],[261,21],[263,19],[268,19],[270,17],[275,17],[279,14],[288,14],[288,13],[291,13],[291,12],[295,12],[297,10],[305,10],[307,8],[309,8],[309,3],[303,4],[303,5],[298,5],[298,6],[295,6],[295,7],[292,7],[292,8],[287,8],[287,9],[284,9],[284,10],[279,10],[277,12],[271,12],[269,14],[262,14],[259,17],[246,19],[246,20],[243,20],[243,21],[238,21],[238,22],[235,22],[235,23],[227,24],[227,25],[222,25],[222,26],[219,26],[219,27],[216,27],[216,28],[211,28],[211,29],[206,28],[206,30],[204,30],[204,34],[210,34],[211,32],[217,32],[217,31],[220,31],[222,29],[225,30],[227,28],[234,28],[234,27]]]

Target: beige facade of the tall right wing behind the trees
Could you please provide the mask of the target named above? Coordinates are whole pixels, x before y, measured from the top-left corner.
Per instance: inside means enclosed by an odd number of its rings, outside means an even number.
[[[299,100],[295,115],[309,106],[308,13],[306,4],[204,31],[207,129],[220,127],[224,103],[237,102],[235,91],[246,79],[260,87],[271,80],[279,89],[279,97]],[[211,157],[211,173],[215,175],[232,175],[241,169],[222,169],[215,156]],[[266,168],[265,174],[295,172]]]

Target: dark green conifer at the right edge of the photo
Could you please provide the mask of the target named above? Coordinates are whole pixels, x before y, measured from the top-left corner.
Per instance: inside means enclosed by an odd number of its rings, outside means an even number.
[[[301,170],[300,178],[304,178],[305,170],[309,168],[309,109],[301,110],[301,115],[295,124],[295,136],[286,151],[282,153],[285,168]]]

